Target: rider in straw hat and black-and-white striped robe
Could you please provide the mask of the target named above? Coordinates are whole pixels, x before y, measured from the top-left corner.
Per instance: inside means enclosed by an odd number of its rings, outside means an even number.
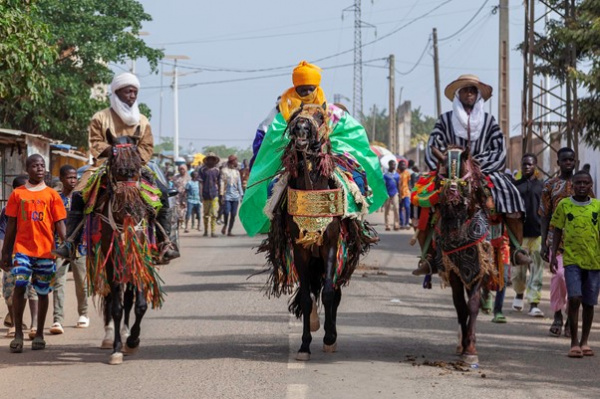
[[[503,173],[506,163],[504,135],[494,117],[483,110],[484,102],[492,96],[492,87],[475,75],[461,75],[446,86],[444,94],[452,101],[452,111],[440,115],[437,120],[429,137],[425,161],[431,170],[436,170],[438,161],[432,148],[442,152],[450,145],[469,148],[471,156],[479,162],[481,171],[493,185],[490,191],[495,212],[503,215],[509,234],[514,237],[511,239],[514,264],[528,265],[530,258],[520,249],[525,208],[519,191]],[[419,233],[421,245],[428,233],[428,229]],[[428,273],[428,262],[420,262],[413,271],[415,275]]]

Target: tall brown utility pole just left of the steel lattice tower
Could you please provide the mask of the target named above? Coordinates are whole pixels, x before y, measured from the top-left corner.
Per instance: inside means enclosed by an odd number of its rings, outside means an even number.
[[[510,145],[510,85],[509,85],[509,51],[508,51],[508,0],[500,0],[500,32],[498,43],[498,120],[500,122],[500,130],[504,133],[506,140],[506,164],[511,165],[511,148]]]

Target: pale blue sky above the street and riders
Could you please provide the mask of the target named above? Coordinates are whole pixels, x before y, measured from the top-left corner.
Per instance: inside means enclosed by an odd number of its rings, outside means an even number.
[[[353,0],[141,0],[152,16],[142,28],[146,43],[179,61],[179,136],[185,153],[207,145],[248,148],[258,124],[275,99],[292,86],[291,73],[301,60],[323,68],[321,86],[329,101],[334,94],[352,111],[354,14],[343,12]],[[362,20],[374,25],[362,30],[363,111],[373,104],[388,108],[387,57],[396,58],[396,105],[410,100],[425,115],[434,116],[435,89],[432,48],[438,30],[440,82],[444,87],[459,75],[472,73],[498,87],[498,0],[362,0]],[[483,6],[483,8],[481,8]],[[481,10],[480,10],[481,9]],[[480,10],[480,11],[479,11]],[[479,11],[479,12],[478,12]],[[510,11],[510,126],[520,134],[523,40],[522,2]],[[343,16],[343,18],[342,18]],[[471,21],[471,22],[469,22]],[[446,39],[448,38],[448,39]],[[444,40],[445,39],[445,40]],[[429,42],[429,44],[428,44]],[[421,55],[423,54],[423,57]],[[323,59],[323,60],[321,60]],[[372,60],[372,61],[371,61]],[[152,109],[156,142],[174,131],[172,60],[152,74],[147,62],[136,62],[140,102]],[[129,65],[113,66],[115,72]],[[409,72],[406,74],[406,72]],[[161,84],[162,82],[162,84]],[[161,112],[162,95],[162,112]],[[497,116],[497,97],[492,114]],[[442,98],[442,110],[451,109]]]

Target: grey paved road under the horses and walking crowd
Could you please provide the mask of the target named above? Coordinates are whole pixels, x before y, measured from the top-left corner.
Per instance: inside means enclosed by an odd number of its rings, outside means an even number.
[[[381,214],[372,220],[381,222]],[[381,226],[379,226],[381,227]],[[239,227],[238,227],[239,229]],[[382,230],[382,229],[381,229]],[[549,319],[506,312],[495,325],[480,315],[480,368],[456,370],[456,318],[450,290],[425,291],[410,275],[416,249],[408,232],[381,232],[382,242],[344,290],[338,352],[310,362],[294,355],[300,324],[286,299],[260,293],[265,276],[258,238],[183,235],[184,256],[162,271],[168,293],[143,323],[142,348],[121,366],[98,349],[101,318],[76,322],[72,280],[66,332],[48,349],[8,353],[0,338],[0,392],[15,398],[597,398],[600,357],[568,359],[568,341],[547,334]],[[436,280],[437,281],[437,280]],[[542,310],[550,314],[545,286]],[[512,300],[509,289],[507,304]],[[50,321],[50,319],[49,319]],[[600,329],[591,343],[600,341]],[[0,329],[4,335],[5,330]],[[600,347],[598,347],[600,349]],[[430,366],[428,364],[434,364]],[[460,367],[459,367],[460,368]]]

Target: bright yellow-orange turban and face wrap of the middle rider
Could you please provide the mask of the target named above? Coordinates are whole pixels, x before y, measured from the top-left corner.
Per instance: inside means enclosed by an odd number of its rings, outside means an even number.
[[[292,82],[294,87],[287,89],[282,95],[279,102],[279,112],[289,121],[290,116],[301,104],[317,104],[323,105],[327,100],[323,89],[319,87],[321,83],[321,68],[316,65],[309,64],[306,61],[300,62],[292,72]],[[298,86],[317,86],[317,88],[307,96],[300,97],[296,92]]]

